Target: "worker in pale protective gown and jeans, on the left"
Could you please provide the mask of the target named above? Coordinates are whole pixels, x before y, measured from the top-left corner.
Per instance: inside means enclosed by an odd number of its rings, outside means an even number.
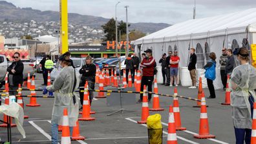
[[[79,114],[79,99],[74,93],[78,88],[80,78],[76,76],[76,71],[70,65],[69,56],[63,54],[59,57],[59,65],[62,69],[56,77],[53,85],[46,89],[54,92],[54,107],[52,109],[52,144],[58,143],[58,125],[62,125],[63,109],[67,108],[69,115],[70,135],[72,127],[76,125]]]

